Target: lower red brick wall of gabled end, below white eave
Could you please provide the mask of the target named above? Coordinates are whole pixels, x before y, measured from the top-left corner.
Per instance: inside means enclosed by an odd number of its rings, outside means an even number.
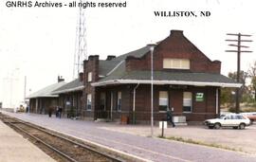
[[[159,91],[169,91],[169,107],[174,107],[174,116],[186,116],[188,121],[203,121],[206,118],[215,117],[215,92],[216,87],[193,87],[185,89],[174,89],[168,85],[156,86],[154,93],[154,117],[155,120],[166,118],[165,113],[158,111]],[[192,92],[192,113],[183,113],[183,92]],[[202,102],[195,101],[196,93],[204,93],[205,99]],[[137,120],[150,121],[151,108],[150,85],[141,85],[137,88],[136,111]],[[132,100],[131,100],[132,101]],[[144,113],[143,113],[144,112]]]

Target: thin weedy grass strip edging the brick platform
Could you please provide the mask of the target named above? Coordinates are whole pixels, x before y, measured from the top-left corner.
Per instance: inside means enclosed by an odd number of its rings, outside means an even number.
[[[225,150],[234,151],[234,152],[243,152],[243,150],[241,148],[233,149],[228,146],[223,146],[223,145],[216,144],[216,143],[205,143],[202,141],[193,140],[191,138],[185,139],[180,136],[168,136],[168,137],[163,136],[162,137],[159,135],[158,137],[164,138],[164,139],[169,139],[169,140],[175,140],[175,141],[179,141],[179,142],[184,142],[184,143],[191,143],[191,144],[195,144],[195,145],[203,145],[203,146],[208,146],[208,147],[213,147],[213,148],[218,148],[218,149],[225,149]],[[243,153],[246,153],[246,152],[243,152]]]

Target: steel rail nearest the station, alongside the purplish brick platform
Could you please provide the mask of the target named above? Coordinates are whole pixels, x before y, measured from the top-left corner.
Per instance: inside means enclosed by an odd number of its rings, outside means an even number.
[[[12,118],[15,118],[15,117],[12,117]],[[114,155],[110,155],[110,154],[108,154],[108,153],[102,153],[102,152],[100,152],[100,151],[97,151],[97,150],[95,150],[95,149],[89,147],[89,146],[86,146],[86,145],[81,144],[81,143],[78,143],[78,142],[76,142],[76,141],[74,141],[74,140],[68,139],[68,138],[66,138],[66,137],[64,137],[64,136],[53,134],[53,133],[51,133],[51,132],[49,132],[49,131],[46,131],[46,129],[41,128],[41,126],[32,125],[32,124],[30,124],[30,123],[28,123],[28,122],[24,122],[23,120],[21,120],[21,119],[19,119],[19,118],[15,118],[15,119],[16,119],[16,120],[19,120],[19,123],[22,123],[22,124],[24,124],[24,125],[27,125],[27,126],[29,126],[29,127],[32,127],[32,128],[34,128],[34,129],[37,129],[37,130],[39,130],[39,131],[42,131],[42,132],[44,132],[44,133],[46,133],[46,134],[48,134],[48,135],[52,135],[52,136],[56,136],[56,137],[59,137],[59,138],[61,138],[61,139],[64,139],[64,140],[66,140],[66,141],[68,141],[68,142],[70,142],[70,143],[72,143],[72,144],[75,144],[75,145],[77,145],[77,146],[79,146],[79,147],[81,147],[81,148],[83,148],[83,149],[89,150],[89,151],[94,152],[94,153],[98,153],[98,154],[100,154],[100,155],[102,155],[102,156],[104,156],[104,157],[106,157],[106,158],[109,158],[109,159],[111,159],[111,160],[113,160],[113,161],[117,161],[117,162],[122,162],[122,161],[124,161],[124,160],[120,159],[119,157],[115,157]]]

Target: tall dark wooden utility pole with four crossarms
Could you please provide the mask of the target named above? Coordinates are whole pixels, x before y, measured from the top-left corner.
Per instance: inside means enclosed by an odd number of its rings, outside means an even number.
[[[230,46],[236,46],[237,49],[236,50],[226,50],[226,52],[235,52],[237,53],[237,72],[236,72],[236,81],[237,82],[241,82],[240,81],[240,66],[241,66],[241,53],[246,53],[246,52],[252,52],[249,50],[242,50],[242,48],[248,48],[249,46],[246,45],[241,45],[242,42],[252,42],[251,40],[243,40],[241,39],[241,37],[250,37],[251,35],[248,34],[232,34],[232,33],[228,33],[227,35],[230,36],[236,36],[237,39],[233,39],[233,40],[226,40],[228,42],[236,42],[236,45],[231,44]],[[239,113],[240,112],[240,89],[241,88],[236,88],[236,101],[235,101],[235,112]]]

